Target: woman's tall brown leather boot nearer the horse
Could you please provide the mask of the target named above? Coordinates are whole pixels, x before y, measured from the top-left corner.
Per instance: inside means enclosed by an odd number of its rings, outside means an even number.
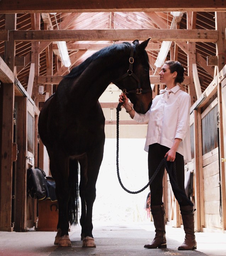
[[[159,206],[151,206],[151,213],[156,228],[156,235],[151,244],[146,244],[144,247],[148,249],[166,248],[165,238],[165,207],[164,204]]]

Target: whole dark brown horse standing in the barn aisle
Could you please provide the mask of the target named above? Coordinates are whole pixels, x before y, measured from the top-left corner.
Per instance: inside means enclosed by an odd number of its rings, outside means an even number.
[[[105,141],[105,118],[98,99],[113,82],[127,94],[135,111],[149,110],[152,90],[145,50],[149,40],[112,44],[94,53],[63,77],[40,111],[38,132],[56,182],[58,224],[54,244],[60,247],[71,246],[68,229],[69,223],[78,224],[79,196],[83,247],[96,247],[92,208]]]

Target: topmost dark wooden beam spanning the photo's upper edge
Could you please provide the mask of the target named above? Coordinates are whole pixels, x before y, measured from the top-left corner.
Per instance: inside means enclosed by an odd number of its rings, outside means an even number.
[[[76,4],[71,0],[1,0],[0,13],[22,12],[103,12],[103,11],[225,11],[226,7],[221,1],[190,0],[187,1],[162,0],[126,1],[126,0],[77,0]]]

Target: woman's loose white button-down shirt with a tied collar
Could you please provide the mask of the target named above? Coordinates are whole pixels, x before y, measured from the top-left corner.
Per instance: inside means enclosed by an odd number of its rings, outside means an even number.
[[[190,162],[190,107],[190,95],[176,85],[169,91],[161,90],[147,113],[135,112],[135,121],[148,121],[145,150],[148,152],[149,145],[154,143],[171,148],[174,139],[179,138],[182,141],[177,152],[183,155],[185,162]]]

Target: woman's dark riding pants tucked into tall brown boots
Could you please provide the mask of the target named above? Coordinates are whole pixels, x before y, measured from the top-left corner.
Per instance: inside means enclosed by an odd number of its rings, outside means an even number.
[[[160,161],[164,158],[166,152],[170,149],[166,146],[162,146],[158,143],[149,145],[148,150],[148,175],[149,179],[152,177],[154,172],[156,171]],[[172,164],[173,162],[168,162],[168,164]],[[179,188],[185,192],[185,174],[184,174],[184,160],[183,156],[179,153],[176,153],[175,158],[176,164],[176,177]],[[150,185],[151,190],[151,206],[161,205],[162,197],[163,197],[163,176],[165,172],[165,166],[162,165],[161,169],[159,170],[158,174],[154,178],[153,182]],[[188,201],[181,196],[177,196],[173,189],[175,198],[177,199],[180,206],[187,206]]]

